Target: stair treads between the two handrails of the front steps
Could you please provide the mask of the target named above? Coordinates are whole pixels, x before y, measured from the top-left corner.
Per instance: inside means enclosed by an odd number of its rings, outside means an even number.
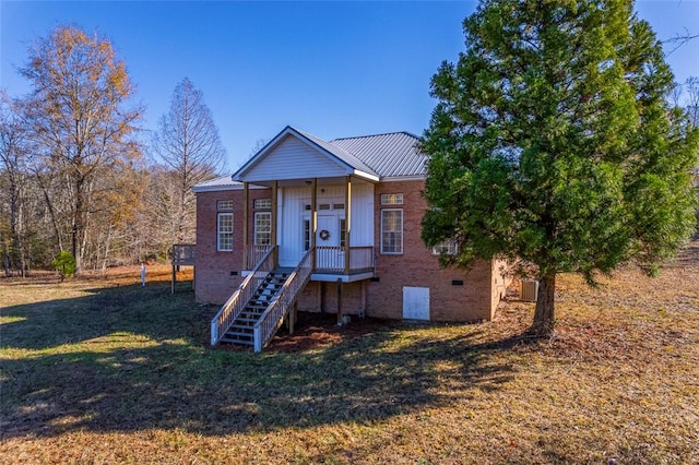
[[[253,326],[279,295],[293,269],[276,269],[260,283],[242,311],[221,338],[222,343],[254,345]]]

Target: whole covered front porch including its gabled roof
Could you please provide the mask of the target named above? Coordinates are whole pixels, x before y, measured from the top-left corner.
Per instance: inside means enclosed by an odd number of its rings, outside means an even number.
[[[311,281],[372,276],[374,187],[379,176],[362,160],[287,127],[233,180],[242,183],[244,272],[272,250],[280,269],[295,269],[308,257]],[[261,199],[260,189],[269,198]]]

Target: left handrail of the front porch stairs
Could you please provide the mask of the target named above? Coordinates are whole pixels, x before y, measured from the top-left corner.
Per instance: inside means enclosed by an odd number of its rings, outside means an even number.
[[[221,307],[218,313],[211,320],[211,345],[218,344],[223,335],[228,331],[233,322],[245,309],[252,294],[257,290],[260,282],[274,270],[274,249],[276,246],[270,247],[270,250],[262,255],[258,263],[252,267],[250,274],[240,283],[226,303]]]

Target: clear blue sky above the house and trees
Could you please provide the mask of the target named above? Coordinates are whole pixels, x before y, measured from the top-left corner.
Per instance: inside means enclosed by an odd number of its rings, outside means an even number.
[[[292,124],[322,139],[422,134],[435,102],[429,79],[463,49],[475,1],[5,1],[0,0],[0,86],[27,46],[59,25],[109,38],[155,129],[175,85],[204,94],[235,170],[259,140]],[[699,0],[637,1],[659,38],[699,34]],[[699,76],[699,39],[668,56],[678,81]]]

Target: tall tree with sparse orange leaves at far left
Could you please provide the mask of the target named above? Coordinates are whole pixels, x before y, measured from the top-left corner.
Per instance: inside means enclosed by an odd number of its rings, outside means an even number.
[[[38,39],[20,72],[34,87],[25,111],[39,150],[37,166],[48,176],[44,192],[55,240],[61,245],[61,236],[70,238],[81,270],[87,228],[95,224],[91,215],[110,207],[95,204],[100,176],[140,156],[130,138],[142,110],[125,107],[135,90],[111,44],[76,27],[59,27]],[[64,212],[58,208],[63,200]]]

